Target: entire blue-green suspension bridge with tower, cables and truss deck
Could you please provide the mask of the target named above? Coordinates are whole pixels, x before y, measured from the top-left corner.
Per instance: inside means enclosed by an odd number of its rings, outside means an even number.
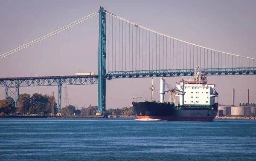
[[[58,112],[61,112],[61,86],[98,84],[98,113],[106,110],[106,80],[113,78],[174,77],[193,75],[202,66],[207,75],[256,75],[256,59],[189,43],[140,26],[100,7],[88,16],[40,37],[0,59],[63,32],[99,15],[98,75],[0,78],[5,98],[17,105],[20,86],[58,86]],[[1,60],[0,60],[1,61]]]

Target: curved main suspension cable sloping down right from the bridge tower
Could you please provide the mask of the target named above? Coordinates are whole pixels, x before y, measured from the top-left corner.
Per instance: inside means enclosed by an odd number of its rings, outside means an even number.
[[[133,25],[137,25],[137,27],[143,28],[143,29],[148,30],[148,31],[150,31],[150,32],[153,32],[153,33],[156,33],[156,34],[159,34],[159,35],[162,35],[162,36],[166,36],[166,37],[169,37],[169,38],[172,38],[172,39],[174,39],[174,40],[178,40],[178,41],[181,41],[181,42],[184,42],[184,43],[188,43],[188,44],[193,45],[193,46],[198,46],[198,47],[205,48],[205,49],[209,49],[209,50],[212,50],[212,51],[215,51],[215,52],[221,52],[221,51],[218,51],[218,50],[215,50],[215,49],[211,49],[211,48],[207,48],[207,47],[204,47],[204,46],[196,45],[196,44],[194,44],[194,43],[189,43],[189,42],[187,42],[187,41],[180,40],[180,39],[177,39],[177,38],[175,38],[175,37],[171,37],[171,36],[162,34],[162,33],[160,33],[160,32],[156,32],[156,31],[154,31],[154,30],[151,30],[151,29],[148,29],[148,28],[146,28],[146,27],[140,26],[140,25],[138,25],[137,23],[133,23],[133,22],[131,22],[131,21],[129,21],[129,20],[125,20],[125,19],[122,18],[122,17],[116,16],[116,15],[110,13],[109,11],[104,11],[104,12],[107,13],[107,14],[110,14],[110,15],[113,16],[113,17],[116,17],[116,18],[119,18],[119,19],[121,19],[121,20],[124,20],[125,22],[131,23],[131,24],[133,24]],[[246,57],[246,56],[236,55],[236,54],[232,54],[232,53],[229,53],[229,52],[222,52],[222,53],[228,54],[228,55],[233,55],[233,56],[238,56],[238,57],[241,57],[241,58],[248,58],[248,59],[256,60],[256,58],[250,58],[250,57]]]

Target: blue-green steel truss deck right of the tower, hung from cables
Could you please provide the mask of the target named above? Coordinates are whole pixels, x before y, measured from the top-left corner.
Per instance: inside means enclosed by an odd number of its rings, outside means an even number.
[[[256,67],[248,68],[207,68],[202,69],[207,75],[256,75]],[[194,69],[161,69],[161,70],[134,70],[108,72],[106,79],[112,78],[145,78],[145,77],[172,77],[189,76],[194,74]]]

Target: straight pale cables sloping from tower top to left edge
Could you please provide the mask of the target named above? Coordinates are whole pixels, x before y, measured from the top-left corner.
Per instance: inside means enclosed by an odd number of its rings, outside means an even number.
[[[11,55],[11,54],[13,54],[13,53],[15,53],[15,52],[18,52],[18,51],[20,51],[20,50],[22,50],[22,49],[25,49],[26,47],[29,47],[29,46],[31,46],[31,45],[33,45],[33,44],[35,44],[35,43],[38,43],[38,42],[40,42],[40,41],[42,41],[42,40],[44,40],[44,39],[47,39],[48,37],[51,37],[51,36],[53,36],[53,35],[55,35],[55,34],[58,34],[59,32],[62,32],[62,31],[64,31],[64,30],[66,30],[66,29],[69,29],[70,27],[73,27],[73,26],[75,26],[75,25],[77,25],[77,24],[79,24],[79,23],[81,23],[81,22],[83,22],[83,21],[85,21],[85,20],[88,20],[88,19],[90,19],[91,17],[96,16],[97,14],[99,14],[98,11],[96,11],[96,12],[94,12],[94,13],[92,13],[92,14],[90,14],[90,15],[84,17],[84,18],[81,18],[80,20],[77,20],[77,21],[75,21],[75,22],[73,22],[73,23],[70,23],[69,25],[62,27],[61,29],[58,29],[58,30],[56,30],[56,31],[54,31],[54,32],[51,32],[51,33],[47,34],[47,35],[44,35],[43,37],[40,37],[40,38],[38,38],[38,39],[36,39],[36,40],[33,40],[33,41],[31,41],[30,43],[27,43],[27,44],[25,44],[25,45],[23,45],[23,46],[20,46],[20,47],[16,48],[16,49],[13,49],[13,50],[11,50],[11,51],[9,51],[9,52],[6,52],[6,53],[0,55],[0,59],[6,57],[6,56],[8,56],[8,55]]]

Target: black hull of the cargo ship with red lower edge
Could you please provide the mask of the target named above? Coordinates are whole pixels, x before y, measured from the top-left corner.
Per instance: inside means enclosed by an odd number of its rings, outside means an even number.
[[[138,119],[151,118],[167,121],[212,121],[217,115],[218,104],[214,109],[186,107],[176,109],[174,104],[156,102],[133,102]]]

